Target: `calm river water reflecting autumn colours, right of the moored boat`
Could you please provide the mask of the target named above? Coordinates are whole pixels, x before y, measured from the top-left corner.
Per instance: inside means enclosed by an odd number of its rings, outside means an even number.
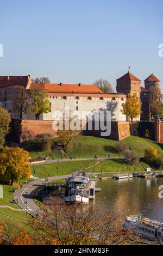
[[[96,192],[94,204],[103,210],[114,210],[125,218],[127,215],[142,216],[163,222],[163,198],[158,187],[163,178],[106,179],[96,182],[101,192]]]

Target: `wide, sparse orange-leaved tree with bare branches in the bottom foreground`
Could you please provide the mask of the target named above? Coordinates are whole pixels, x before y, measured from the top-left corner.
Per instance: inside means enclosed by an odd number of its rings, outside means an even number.
[[[90,205],[53,205],[29,225],[40,245],[116,245],[132,239],[114,212]]]

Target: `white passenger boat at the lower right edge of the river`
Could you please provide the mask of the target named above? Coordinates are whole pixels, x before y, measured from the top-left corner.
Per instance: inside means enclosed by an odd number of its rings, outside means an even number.
[[[159,239],[163,241],[163,223],[151,220],[139,215],[126,217],[124,227],[133,230],[133,233],[142,235],[148,239]]]

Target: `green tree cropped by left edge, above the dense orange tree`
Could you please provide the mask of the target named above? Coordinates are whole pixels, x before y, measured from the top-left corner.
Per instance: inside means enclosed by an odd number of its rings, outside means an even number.
[[[8,111],[0,107],[0,148],[3,146],[5,141],[5,136],[9,132],[10,121],[11,121],[11,118]]]

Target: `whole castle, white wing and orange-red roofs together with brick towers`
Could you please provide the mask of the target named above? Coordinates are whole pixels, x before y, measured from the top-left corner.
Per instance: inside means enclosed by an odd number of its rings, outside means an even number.
[[[117,93],[103,93],[95,85],[90,84],[65,84],[42,83],[39,86],[48,94],[51,112],[41,114],[41,120],[54,120],[55,111],[64,113],[65,107],[70,112],[82,113],[111,111],[111,121],[127,121],[122,114],[122,103],[126,102],[127,95],[136,93],[142,102],[142,113],[134,121],[151,120],[150,88],[160,87],[160,80],[153,74],[145,80],[145,88],[141,87],[141,80],[127,72],[116,80]],[[0,107],[8,109],[12,119],[19,119],[14,106],[18,91],[30,92],[38,84],[32,83],[28,76],[0,76]],[[31,113],[23,113],[22,119],[35,119]]]

